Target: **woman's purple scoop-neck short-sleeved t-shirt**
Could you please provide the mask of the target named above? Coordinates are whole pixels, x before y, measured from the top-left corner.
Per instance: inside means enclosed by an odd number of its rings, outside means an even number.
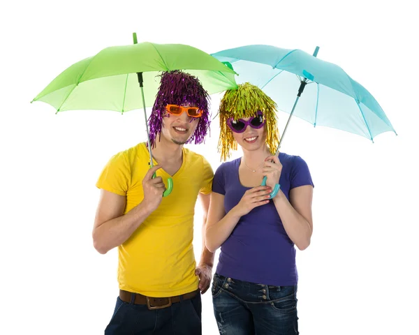
[[[241,158],[223,163],[214,174],[212,191],[224,195],[226,213],[240,202],[244,187],[239,179]],[[279,184],[289,200],[289,191],[314,186],[307,163],[300,156],[279,154],[282,164]],[[216,271],[222,276],[265,285],[296,285],[295,246],[282,225],[272,200],[242,216],[230,237],[221,245]]]

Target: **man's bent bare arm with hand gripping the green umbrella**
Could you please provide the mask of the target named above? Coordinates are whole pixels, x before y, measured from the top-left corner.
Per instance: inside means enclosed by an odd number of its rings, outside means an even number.
[[[107,253],[123,244],[152,212],[159,207],[165,186],[161,177],[152,179],[160,166],[147,171],[142,180],[144,199],[124,215],[126,197],[101,190],[93,227],[93,245],[99,253]]]

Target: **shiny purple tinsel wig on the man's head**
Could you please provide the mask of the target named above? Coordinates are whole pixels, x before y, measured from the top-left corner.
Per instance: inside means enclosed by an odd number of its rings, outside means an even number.
[[[198,119],[195,133],[186,143],[200,144],[204,142],[207,131],[210,128],[210,112],[207,91],[200,84],[198,78],[179,70],[165,72],[161,75],[160,87],[157,92],[156,101],[152,109],[152,115],[149,117],[149,135],[152,147],[155,146],[157,135],[161,133],[161,124],[166,114],[166,105],[185,105],[199,107],[203,111]]]

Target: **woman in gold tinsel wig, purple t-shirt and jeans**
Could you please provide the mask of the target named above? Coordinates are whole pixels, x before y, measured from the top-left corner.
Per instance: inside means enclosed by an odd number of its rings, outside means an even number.
[[[215,172],[205,232],[210,251],[221,246],[212,284],[220,334],[299,334],[294,245],[309,246],[314,185],[302,158],[272,156],[275,112],[274,101],[249,83],[227,91],[220,105],[221,158],[237,144],[243,150]]]

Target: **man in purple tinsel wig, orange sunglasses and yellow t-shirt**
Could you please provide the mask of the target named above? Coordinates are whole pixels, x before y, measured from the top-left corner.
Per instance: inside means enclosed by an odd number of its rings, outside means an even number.
[[[214,174],[184,144],[203,142],[208,100],[196,77],[163,73],[149,119],[155,166],[140,143],[113,156],[98,179],[94,247],[117,246],[119,254],[119,297],[105,334],[201,334],[200,293],[209,288],[214,254],[203,243],[196,267],[193,212],[199,195],[205,225]],[[169,177],[173,190],[163,197]]]

